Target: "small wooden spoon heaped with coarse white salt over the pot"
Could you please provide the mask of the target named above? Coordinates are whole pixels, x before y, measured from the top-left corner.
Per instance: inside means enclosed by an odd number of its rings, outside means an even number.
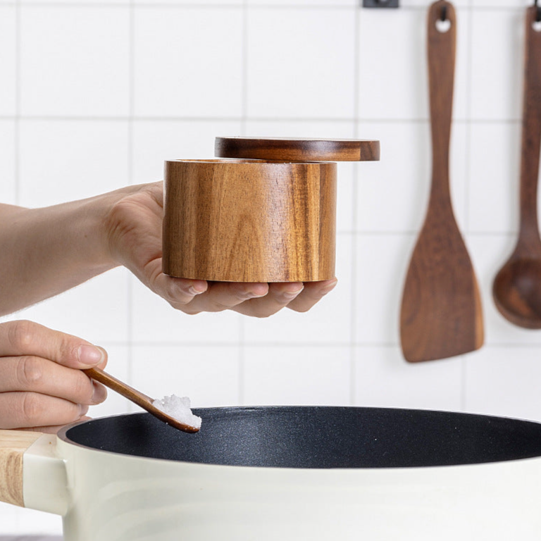
[[[195,416],[189,409],[189,399],[187,398],[182,399],[173,394],[173,396],[165,397],[162,400],[154,400],[99,368],[88,368],[83,372],[89,378],[103,383],[118,394],[122,394],[123,397],[147,410],[160,421],[178,428],[182,432],[195,433],[199,432],[199,428],[201,428],[201,418]]]

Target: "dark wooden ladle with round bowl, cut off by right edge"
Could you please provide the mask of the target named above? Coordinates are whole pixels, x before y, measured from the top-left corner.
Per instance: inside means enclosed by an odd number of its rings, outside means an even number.
[[[497,273],[492,297],[504,318],[541,328],[541,240],[537,225],[537,176],[541,148],[541,32],[537,8],[526,10],[526,47],[521,149],[521,219],[516,247]]]

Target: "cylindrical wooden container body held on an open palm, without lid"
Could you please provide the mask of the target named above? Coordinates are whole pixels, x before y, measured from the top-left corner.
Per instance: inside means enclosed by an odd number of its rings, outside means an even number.
[[[226,282],[335,276],[336,164],[167,161],[163,272]]]

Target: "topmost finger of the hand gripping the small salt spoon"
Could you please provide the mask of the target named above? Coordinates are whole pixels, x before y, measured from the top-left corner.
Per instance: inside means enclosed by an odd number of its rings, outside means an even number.
[[[35,355],[70,368],[91,368],[107,363],[107,354],[65,332],[52,330],[32,321],[0,324],[0,356]]]

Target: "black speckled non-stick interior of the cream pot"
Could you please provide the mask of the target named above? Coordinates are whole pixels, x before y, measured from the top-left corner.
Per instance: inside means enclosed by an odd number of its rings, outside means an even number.
[[[444,411],[261,406],[194,410],[197,434],[149,413],[87,421],[60,433],[104,451],[205,464],[396,468],[541,456],[541,424]]]

